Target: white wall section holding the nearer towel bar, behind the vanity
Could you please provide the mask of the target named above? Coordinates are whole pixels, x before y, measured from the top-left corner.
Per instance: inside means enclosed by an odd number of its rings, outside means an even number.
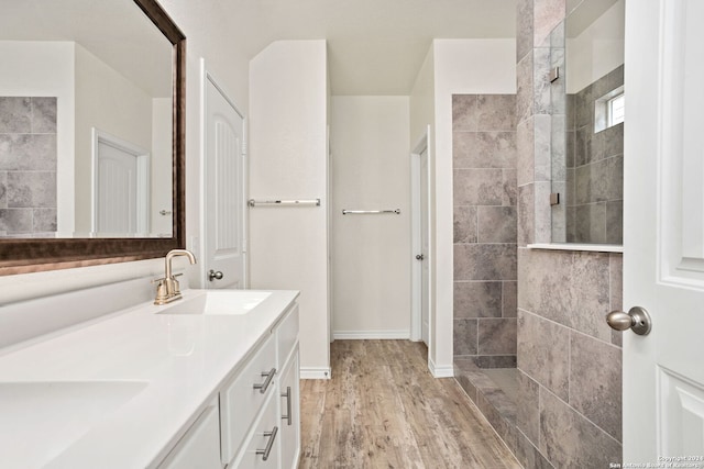
[[[326,47],[279,41],[250,63],[250,197],[321,199],[321,206],[250,209],[251,287],[300,290],[309,378],[330,372]]]

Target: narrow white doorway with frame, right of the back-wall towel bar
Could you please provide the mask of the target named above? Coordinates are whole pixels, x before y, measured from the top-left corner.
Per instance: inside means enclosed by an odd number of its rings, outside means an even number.
[[[411,256],[411,268],[410,268],[410,339],[414,342],[422,340],[421,331],[421,291],[422,291],[422,266],[421,263],[416,263],[415,257],[416,254],[420,252],[421,248],[421,230],[420,225],[420,155],[424,150],[427,150],[427,158],[430,163],[431,157],[431,141],[430,141],[430,125],[426,127],[425,133],[418,138],[416,145],[410,152],[410,256]],[[430,164],[428,164],[428,181],[427,188],[430,189]],[[426,210],[428,211],[428,221],[431,220],[432,214],[432,205],[430,203],[430,194],[428,194],[428,206]],[[432,231],[430,230],[430,223],[426,227],[428,237],[428,245],[432,245]],[[433,339],[433,331],[432,331],[432,310],[430,305],[432,290],[430,289],[430,279],[432,278],[432,263],[430,261],[430,253],[427,253],[428,258],[426,261],[428,263],[428,298],[425,299],[428,305],[428,349],[430,349],[430,344]]]

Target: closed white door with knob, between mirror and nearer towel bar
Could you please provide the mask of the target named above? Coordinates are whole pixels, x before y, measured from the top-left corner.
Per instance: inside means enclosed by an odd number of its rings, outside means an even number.
[[[244,118],[206,76],[205,284],[245,288]]]

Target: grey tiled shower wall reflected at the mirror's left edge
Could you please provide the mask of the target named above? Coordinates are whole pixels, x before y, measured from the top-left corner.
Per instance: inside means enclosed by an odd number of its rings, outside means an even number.
[[[56,98],[0,97],[0,236],[56,231]]]

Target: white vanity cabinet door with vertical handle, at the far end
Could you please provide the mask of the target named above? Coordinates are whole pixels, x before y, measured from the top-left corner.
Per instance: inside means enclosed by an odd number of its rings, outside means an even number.
[[[300,451],[300,401],[298,381],[298,344],[284,367],[279,386],[282,469],[298,467]]]

